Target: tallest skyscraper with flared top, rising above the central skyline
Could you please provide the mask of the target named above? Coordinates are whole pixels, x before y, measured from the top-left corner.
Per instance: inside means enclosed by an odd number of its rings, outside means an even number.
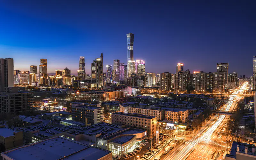
[[[135,61],[133,60],[134,34],[126,34],[127,37],[127,77],[136,73]]]

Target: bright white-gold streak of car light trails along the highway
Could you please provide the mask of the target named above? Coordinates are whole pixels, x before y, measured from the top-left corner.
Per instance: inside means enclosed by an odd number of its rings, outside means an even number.
[[[246,89],[248,82],[245,82],[238,90],[235,90],[233,94],[243,94],[244,90]],[[228,103],[225,104],[226,108],[224,111],[229,111],[231,106],[233,105],[233,100],[236,95],[230,95],[228,99]],[[219,118],[218,118],[219,117]],[[181,160],[184,159],[188,155],[188,153],[196,146],[198,143],[205,141],[208,143],[211,138],[212,134],[216,131],[218,126],[223,122],[225,119],[225,115],[215,115],[191,140],[185,143],[183,146],[177,148],[174,152],[171,152],[170,155],[166,156],[165,159],[173,159],[173,160]]]

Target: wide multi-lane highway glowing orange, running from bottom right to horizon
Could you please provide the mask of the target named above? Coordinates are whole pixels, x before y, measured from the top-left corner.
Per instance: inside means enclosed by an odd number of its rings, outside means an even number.
[[[242,98],[236,96],[236,94],[243,94],[244,90],[247,89],[247,84],[247,82],[244,83],[239,89],[234,90],[233,94],[229,95],[228,102],[221,108],[222,111],[234,111],[236,109],[236,101]],[[167,155],[163,156],[163,159],[213,159],[215,153],[221,150],[220,143],[225,138],[222,132],[225,130],[228,118],[229,116],[227,115],[213,116],[195,136],[190,139],[186,138],[187,141],[183,145],[181,144],[174,148]]]

